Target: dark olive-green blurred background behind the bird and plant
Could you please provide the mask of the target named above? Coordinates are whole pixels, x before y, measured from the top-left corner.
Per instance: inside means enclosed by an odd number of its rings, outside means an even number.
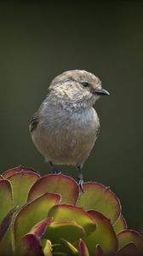
[[[101,131],[84,179],[111,186],[129,228],[143,230],[143,2],[1,1],[0,49],[1,172],[20,164],[49,172],[31,143],[31,115],[54,76],[85,69],[111,96],[95,106]]]

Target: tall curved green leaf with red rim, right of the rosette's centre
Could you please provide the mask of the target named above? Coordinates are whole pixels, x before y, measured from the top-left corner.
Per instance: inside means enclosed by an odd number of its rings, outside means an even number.
[[[96,230],[85,238],[89,254],[98,255],[95,252],[95,246],[100,245],[104,255],[112,255],[117,252],[117,236],[112,228],[110,219],[106,218],[100,212],[89,211],[89,214],[94,218]]]

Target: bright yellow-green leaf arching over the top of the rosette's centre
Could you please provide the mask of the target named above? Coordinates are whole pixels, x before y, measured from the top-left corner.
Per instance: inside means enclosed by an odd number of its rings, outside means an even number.
[[[94,218],[88,212],[85,212],[81,207],[74,207],[70,205],[54,206],[49,211],[49,217],[53,217],[54,221],[75,221],[81,225],[87,234],[95,230],[96,225]]]

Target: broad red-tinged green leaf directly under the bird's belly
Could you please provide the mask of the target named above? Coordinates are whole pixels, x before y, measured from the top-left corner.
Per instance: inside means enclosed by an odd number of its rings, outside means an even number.
[[[79,188],[72,177],[63,174],[48,174],[41,177],[31,187],[28,201],[37,198],[45,192],[58,193],[61,195],[61,202],[75,205],[79,196]]]

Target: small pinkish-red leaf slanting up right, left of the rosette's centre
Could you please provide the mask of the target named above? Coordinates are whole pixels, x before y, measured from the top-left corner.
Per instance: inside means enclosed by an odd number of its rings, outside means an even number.
[[[44,218],[40,222],[38,222],[32,229],[30,230],[30,233],[38,236],[41,238],[45,231],[47,230],[47,227],[51,223],[52,218]]]

